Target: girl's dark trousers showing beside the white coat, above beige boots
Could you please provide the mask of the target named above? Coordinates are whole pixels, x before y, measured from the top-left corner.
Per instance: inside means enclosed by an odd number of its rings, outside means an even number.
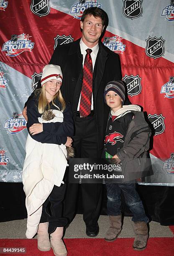
[[[63,200],[66,190],[66,184],[60,187],[54,185],[49,197],[42,205],[42,214],[40,223],[49,222],[48,233],[53,233],[57,227],[67,225],[67,218],[63,217]]]

